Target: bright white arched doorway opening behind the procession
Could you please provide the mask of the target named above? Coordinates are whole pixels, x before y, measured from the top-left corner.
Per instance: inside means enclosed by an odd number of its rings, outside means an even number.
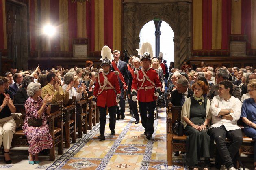
[[[174,61],[174,32],[171,29],[171,26],[165,21],[162,21],[160,31],[160,51],[163,53],[164,60],[167,60],[167,65],[169,67],[170,62]],[[155,50],[155,25],[153,21],[149,21],[141,28],[139,38],[139,48],[143,42],[149,42],[152,45],[154,56],[158,57]]]

